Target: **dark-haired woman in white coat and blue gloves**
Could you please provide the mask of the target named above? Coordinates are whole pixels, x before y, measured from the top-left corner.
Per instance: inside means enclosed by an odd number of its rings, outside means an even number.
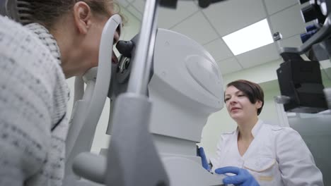
[[[223,179],[225,184],[323,185],[322,173],[298,132],[258,118],[264,105],[259,85],[248,80],[230,82],[224,101],[238,127],[221,135],[212,168],[199,148],[204,168],[229,175]]]

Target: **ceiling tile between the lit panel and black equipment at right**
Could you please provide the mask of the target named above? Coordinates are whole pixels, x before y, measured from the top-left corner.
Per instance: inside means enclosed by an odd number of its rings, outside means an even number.
[[[300,10],[300,6],[296,5],[270,16],[274,32],[280,32],[285,39],[304,32],[305,24]]]

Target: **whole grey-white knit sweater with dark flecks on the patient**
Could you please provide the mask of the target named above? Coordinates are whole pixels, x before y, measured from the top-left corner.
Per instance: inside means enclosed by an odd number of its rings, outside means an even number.
[[[0,16],[0,186],[62,185],[69,88],[59,58],[45,27]]]

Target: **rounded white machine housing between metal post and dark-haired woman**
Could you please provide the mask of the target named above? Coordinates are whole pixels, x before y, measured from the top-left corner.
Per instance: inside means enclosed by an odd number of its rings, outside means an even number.
[[[178,32],[158,29],[153,75],[150,132],[170,185],[221,185],[201,165],[197,142],[211,113],[223,108],[223,80],[214,58]]]

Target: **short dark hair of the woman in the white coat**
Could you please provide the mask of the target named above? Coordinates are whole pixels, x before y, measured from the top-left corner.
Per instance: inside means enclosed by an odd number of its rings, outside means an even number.
[[[260,109],[257,109],[257,116],[260,115],[262,107],[265,104],[265,94],[263,89],[255,82],[250,82],[248,80],[236,80],[228,83],[226,87],[236,87],[239,89],[246,97],[250,100],[250,103],[255,104],[257,100],[262,101],[262,106]]]

